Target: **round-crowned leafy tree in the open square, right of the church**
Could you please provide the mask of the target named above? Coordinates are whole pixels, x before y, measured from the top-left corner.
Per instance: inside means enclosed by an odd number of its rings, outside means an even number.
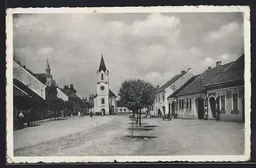
[[[118,92],[120,101],[126,108],[133,111],[133,123],[135,112],[137,113],[137,128],[138,111],[141,108],[146,107],[148,104],[152,103],[152,99],[155,98],[155,90],[156,88],[151,83],[145,82],[141,79],[128,79],[123,81],[121,84],[121,87]]]

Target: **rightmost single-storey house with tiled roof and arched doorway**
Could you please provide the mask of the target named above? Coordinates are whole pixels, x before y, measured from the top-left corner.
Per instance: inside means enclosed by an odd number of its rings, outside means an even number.
[[[244,122],[244,55],[207,83],[205,90],[208,118]]]

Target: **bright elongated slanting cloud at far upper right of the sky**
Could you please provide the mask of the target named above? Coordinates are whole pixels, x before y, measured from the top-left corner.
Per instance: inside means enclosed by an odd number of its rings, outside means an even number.
[[[206,41],[216,41],[228,36],[232,36],[232,34],[237,33],[241,27],[242,26],[237,22],[230,22],[227,25],[223,25],[217,31],[209,32],[208,36],[206,37]]]

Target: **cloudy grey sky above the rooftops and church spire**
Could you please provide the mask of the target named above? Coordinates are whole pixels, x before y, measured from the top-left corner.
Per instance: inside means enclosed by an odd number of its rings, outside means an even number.
[[[201,74],[244,52],[241,13],[14,14],[14,54],[33,73],[73,83],[80,98],[96,93],[103,55],[110,88],[140,78],[163,85],[181,70]]]

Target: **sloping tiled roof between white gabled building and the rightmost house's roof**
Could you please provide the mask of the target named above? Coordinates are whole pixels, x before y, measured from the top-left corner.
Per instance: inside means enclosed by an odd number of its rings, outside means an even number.
[[[224,69],[232,65],[233,62],[217,66],[211,69],[205,70],[202,74],[197,76],[193,82],[189,83],[186,87],[182,90],[177,92],[176,95],[184,95],[184,94],[191,94],[191,93],[199,93],[201,90],[204,90],[204,85],[209,83],[212,79],[214,79],[217,75],[222,73]],[[202,83],[201,83],[202,82]]]

